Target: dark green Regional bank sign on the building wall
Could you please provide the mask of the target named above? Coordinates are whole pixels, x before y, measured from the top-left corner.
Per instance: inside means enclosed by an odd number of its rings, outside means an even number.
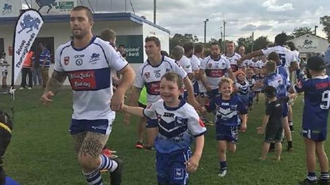
[[[143,36],[117,35],[116,45],[125,46],[126,60],[129,63],[143,63]]]

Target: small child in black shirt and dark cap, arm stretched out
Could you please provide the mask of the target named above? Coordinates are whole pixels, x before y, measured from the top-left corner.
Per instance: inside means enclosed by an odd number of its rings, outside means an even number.
[[[276,160],[280,161],[282,151],[282,114],[284,104],[286,104],[290,98],[295,95],[292,94],[290,97],[276,98],[277,91],[273,86],[266,86],[263,89],[265,96],[268,98],[268,105],[266,107],[266,115],[263,117],[263,121],[260,127],[258,127],[258,133],[263,134],[266,131],[265,143],[263,143],[262,154],[260,160],[265,160],[271,143],[276,145]]]

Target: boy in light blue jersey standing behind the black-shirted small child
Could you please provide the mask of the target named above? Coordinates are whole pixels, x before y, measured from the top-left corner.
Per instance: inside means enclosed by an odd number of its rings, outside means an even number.
[[[266,77],[265,80],[263,81],[265,86],[273,86],[276,88],[277,95],[276,97],[282,98],[286,97],[286,88],[288,86],[288,81],[287,78],[285,78],[283,75],[280,75],[276,73],[276,63],[274,61],[268,61],[266,62],[265,65],[265,70],[266,70]],[[287,150],[292,151],[292,136],[289,128],[289,124],[287,121],[287,103],[284,104],[283,112],[282,112],[282,117],[283,117],[283,128],[284,128],[284,134],[287,140]]]

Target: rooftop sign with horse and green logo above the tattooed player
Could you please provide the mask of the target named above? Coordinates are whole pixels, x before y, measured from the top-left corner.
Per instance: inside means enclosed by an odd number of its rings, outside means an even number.
[[[75,6],[75,0],[32,0],[32,8],[43,15],[69,14]]]

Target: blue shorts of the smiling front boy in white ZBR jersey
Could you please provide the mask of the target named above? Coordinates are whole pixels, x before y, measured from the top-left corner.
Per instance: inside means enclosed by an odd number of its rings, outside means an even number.
[[[189,173],[184,164],[191,157],[190,148],[169,154],[156,152],[157,180],[160,184],[188,184]]]

